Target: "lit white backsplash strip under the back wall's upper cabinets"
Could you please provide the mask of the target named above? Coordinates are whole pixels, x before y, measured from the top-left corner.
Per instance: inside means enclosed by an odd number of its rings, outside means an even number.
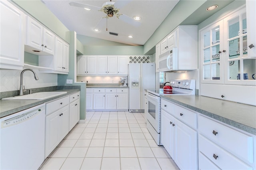
[[[77,76],[77,81],[88,81],[88,83],[118,83],[121,77],[125,77],[127,83],[127,76]]]

